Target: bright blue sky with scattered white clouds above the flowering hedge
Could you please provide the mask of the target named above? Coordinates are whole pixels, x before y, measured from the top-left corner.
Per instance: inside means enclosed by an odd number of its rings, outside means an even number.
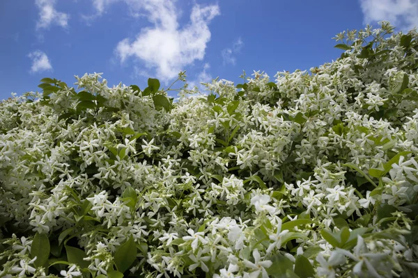
[[[309,70],[338,58],[332,38],[366,23],[418,23],[417,0],[2,0],[0,99],[103,72],[109,85],[191,83],[245,70]]]

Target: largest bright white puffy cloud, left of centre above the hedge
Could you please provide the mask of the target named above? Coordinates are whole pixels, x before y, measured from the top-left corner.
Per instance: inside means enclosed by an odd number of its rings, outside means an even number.
[[[173,1],[125,1],[144,11],[153,26],[143,28],[134,40],[125,38],[118,43],[115,51],[121,63],[131,57],[141,60],[148,70],[156,70],[158,78],[168,81],[186,65],[203,59],[211,35],[208,24],[219,15],[219,6],[195,4],[189,23],[179,26],[179,11]]]

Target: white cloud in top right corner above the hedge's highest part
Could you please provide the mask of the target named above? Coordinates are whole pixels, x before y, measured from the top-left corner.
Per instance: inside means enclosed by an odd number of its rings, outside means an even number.
[[[360,0],[364,23],[387,20],[401,29],[418,26],[418,0]]]

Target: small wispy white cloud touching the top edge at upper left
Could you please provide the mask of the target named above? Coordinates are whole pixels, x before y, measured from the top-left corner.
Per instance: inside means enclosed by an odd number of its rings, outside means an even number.
[[[51,24],[62,27],[68,26],[70,16],[55,9],[55,0],[36,0],[35,3],[39,8],[40,17],[39,21],[36,22],[36,28],[48,28]]]

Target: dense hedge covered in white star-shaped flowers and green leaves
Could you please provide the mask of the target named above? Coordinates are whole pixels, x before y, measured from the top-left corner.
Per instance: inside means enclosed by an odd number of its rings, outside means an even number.
[[[418,33],[393,30],[178,101],[100,74],[2,101],[0,277],[417,277]]]

